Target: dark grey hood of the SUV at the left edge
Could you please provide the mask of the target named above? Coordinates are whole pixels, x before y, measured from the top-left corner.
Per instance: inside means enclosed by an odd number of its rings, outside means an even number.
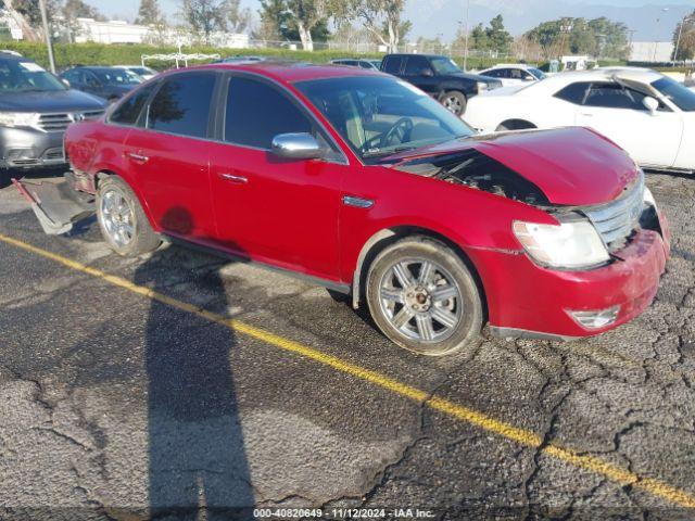
[[[79,112],[99,111],[103,100],[79,90],[0,93],[0,111],[8,112]]]

